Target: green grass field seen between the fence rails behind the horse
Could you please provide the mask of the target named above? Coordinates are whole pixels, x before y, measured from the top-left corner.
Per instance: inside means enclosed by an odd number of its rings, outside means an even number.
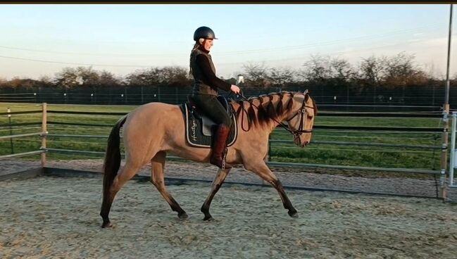
[[[6,108],[12,112],[22,110],[41,110],[41,106],[30,103],[0,103],[0,112]],[[48,110],[67,111],[95,111],[127,113],[137,106],[88,106],[88,105],[56,105],[49,104]],[[120,115],[66,115],[49,113],[48,120],[52,122],[77,122],[97,125],[113,125]],[[41,113],[12,115],[12,123],[37,122],[41,123]],[[0,125],[8,124],[8,117],[1,116]],[[317,117],[315,125],[339,126],[374,126],[374,127],[439,127],[439,118],[350,118],[350,117]],[[40,132],[40,125],[27,125],[22,127],[0,127],[0,136],[8,134],[23,134]],[[111,127],[89,127],[70,125],[48,125],[49,134],[82,134],[107,136]],[[422,168],[438,170],[439,150],[390,148],[382,146],[347,146],[334,144],[311,144],[304,149],[299,149],[292,144],[292,135],[282,129],[275,130],[271,139],[289,140],[289,143],[272,143],[270,160],[296,163],[318,163],[330,165],[354,165],[380,168]],[[442,134],[440,133],[386,133],[386,132],[360,132],[360,131],[335,131],[315,130],[313,141],[349,141],[380,144],[407,144],[441,146]],[[20,139],[0,140],[0,156],[9,153],[35,151],[41,146],[39,137],[23,137]],[[47,147],[51,149],[72,149],[88,151],[104,151],[106,138],[88,137],[49,137]],[[66,155],[49,153],[49,159],[81,159],[100,158],[96,155]],[[32,159],[32,158],[27,158]]]

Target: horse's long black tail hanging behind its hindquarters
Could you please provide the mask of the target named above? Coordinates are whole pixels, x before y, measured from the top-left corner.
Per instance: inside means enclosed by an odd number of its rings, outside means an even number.
[[[115,176],[118,174],[120,168],[120,127],[122,127],[127,120],[127,115],[120,118],[118,122],[113,126],[111,133],[108,137],[108,146],[106,147],[105,161],[103,165],[104,177],[103,177],[103,189],[104,196],[109,196],[111,184],[113,184]]]

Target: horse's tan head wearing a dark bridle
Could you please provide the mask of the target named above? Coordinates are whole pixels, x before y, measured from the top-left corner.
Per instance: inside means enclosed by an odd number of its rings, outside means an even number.
[[[315,115],[318,108],[315,101],[308,94],[308,90],[303,93],[296,93],[292,97],[294,105],[290,116],[286,118],[289,130],[294,133],[294,143],[297,146],[306,146],[311,141]]]

